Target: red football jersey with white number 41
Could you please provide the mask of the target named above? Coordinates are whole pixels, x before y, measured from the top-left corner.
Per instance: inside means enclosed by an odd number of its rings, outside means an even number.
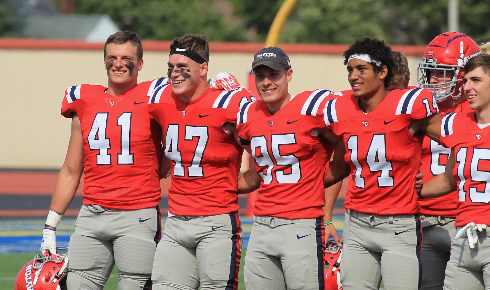
[[[83,204],[134,210],[160,202],[161,129],[148,114],[148,99],[167,78],[140,83],[119,96],[103,86],[69,87],[61,104],[76,112],[83,135]]]

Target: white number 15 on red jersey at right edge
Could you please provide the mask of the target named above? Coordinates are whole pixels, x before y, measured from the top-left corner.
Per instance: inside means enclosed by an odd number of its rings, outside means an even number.
[[[460,178],[458,186],[458,199],[460,201],[466,201],[466,192],[464,190],[466,184],[465,178],[465,163],[466,153],[468,148],[462,147],[456,154],[456,162],[458,162],[458,177]],[[471,181],[481,182],[485,184],[483,191],[477,191],[476,187],[469,187],[469,199],[471,202],[477,203],[489,203],[490,202],[490,188],[488,181],[490,180],[490,172],[487,170],[478,170],[478,164],[480,160],[490,160],[490,149],[485,148],[473,148],[473,155],[471,156],[471,163],[469,164],[469,174]]]

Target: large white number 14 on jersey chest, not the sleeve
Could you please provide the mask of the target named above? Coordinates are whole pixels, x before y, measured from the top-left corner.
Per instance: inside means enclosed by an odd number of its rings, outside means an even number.
[[[356,167],[356,172],[354,173],[356,187],[364,188],[363,167],[359,163],[359,146],[357,142],[357,136],[350,136],[347,140],[347,150],[350,151],[350,161]],[[393,177],[390,176],[393,166],[386,158],[385,134],[373,134],[366,156],[366,163],[369,166],[369,172],[380,172],[378,187],[394,186]]]

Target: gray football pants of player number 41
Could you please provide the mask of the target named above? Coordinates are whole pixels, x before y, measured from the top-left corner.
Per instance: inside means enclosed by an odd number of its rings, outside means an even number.
[[[68,246],[68,290],[102,290],[114,264],[118,290],[149,289],[160,236],[158,207],[108,210],[83,205]]]

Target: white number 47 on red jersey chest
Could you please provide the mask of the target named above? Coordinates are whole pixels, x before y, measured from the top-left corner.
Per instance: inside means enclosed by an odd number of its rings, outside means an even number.
[[[188,166],[188,177],[203,177],[201,161],[204,149],[208,144],[208,127],[207,126],[185,126],[184,140],[194,140],[197,138],[196,149],[192,158],[191,166]],[[182,165],[182,154],[179,148],[179,125],[170,124],[165,135],[165,155],[173,160],[173,175],[185,177],[184,166]],[[181,146],[184,146],[182,144]]]

